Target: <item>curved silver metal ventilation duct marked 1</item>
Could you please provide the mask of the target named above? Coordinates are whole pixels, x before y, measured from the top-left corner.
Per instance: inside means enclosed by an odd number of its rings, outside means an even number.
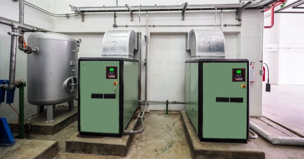
[[[225,58],[225,38],[220,30],[191,30],[186,36],[186,50],[191,59]]]

